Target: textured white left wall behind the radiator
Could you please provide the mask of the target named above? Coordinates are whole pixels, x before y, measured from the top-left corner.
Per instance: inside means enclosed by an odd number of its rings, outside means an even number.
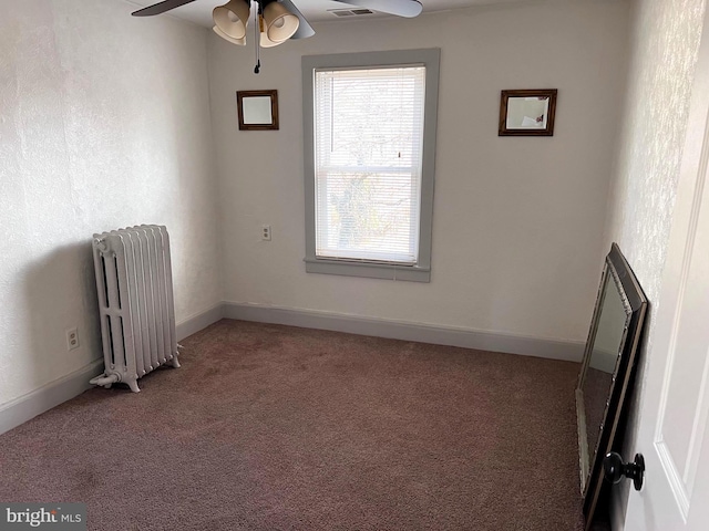
[[[206,31],[132,8],[2,2],[0,406],[100,356],[95,231],[168,227],[178,321],[222,298]]]

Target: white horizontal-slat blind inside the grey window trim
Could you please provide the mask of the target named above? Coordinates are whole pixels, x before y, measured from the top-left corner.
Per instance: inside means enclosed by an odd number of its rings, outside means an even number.
[[[417,264],[425,66],[315,73],[316,257]]]

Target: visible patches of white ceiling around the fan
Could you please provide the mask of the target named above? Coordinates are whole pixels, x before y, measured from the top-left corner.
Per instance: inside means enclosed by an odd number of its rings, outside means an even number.
[[[160,0],[125,0],[136,7],[136,9],[144,8],[157,3]],[[524,0],[420,0],[423,4],[423,11],[445,11],[449,9],[466,8],[470,6],[483,6],[491,3],[510,3],[520,2]],[[217,6],[223,6],[227,0],[195,0],[192,3],[183,6],[181,8],[173,9],[168,13],[178,17],[184,20],[188,20],[205,28],[212,28],[214,22],[212,21],[212,10]],[[332,20],[351,20],[354,17],[336,17],[328,12],[333,9],[354,9],[354,6],[348,6],[347,3],[336,2],[332,0],[292,0],[296,7],[310,22],[316,21],[332,21]],[[131,11],[134,11],[131,9]],[[165,14],[157,15],[164,17]],[[379,17],[380,13],[358,15],[357,19],[361,20],[364,17]]]

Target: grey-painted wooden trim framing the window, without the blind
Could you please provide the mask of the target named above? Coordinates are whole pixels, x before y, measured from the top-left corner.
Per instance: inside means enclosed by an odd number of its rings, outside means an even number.
[[[435,133],[439,101],[440,49],[387,52],[338,53],[302,58],[302,131],[306,191],[306,271],[309,273],[368,277],[374,279],[430,282],[433,189],[435,176]],[[316,257],[315,187],[315,72],[318,69],[425,65],[423,150],[421,164],[421,211],[419,257],[413,266],[352,261]]]

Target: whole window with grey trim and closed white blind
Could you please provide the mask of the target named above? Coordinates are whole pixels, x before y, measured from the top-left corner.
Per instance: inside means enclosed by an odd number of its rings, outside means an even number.
[[[302,58],[308,272],[430,280],[439,55]]]

